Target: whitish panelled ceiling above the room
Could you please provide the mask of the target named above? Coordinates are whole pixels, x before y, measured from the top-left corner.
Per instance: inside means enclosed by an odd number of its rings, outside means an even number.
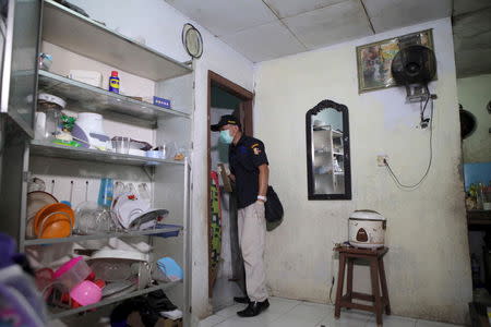
[[[491,72],[491,0],[165,1],[253,62],[454,13],[458,74]]]

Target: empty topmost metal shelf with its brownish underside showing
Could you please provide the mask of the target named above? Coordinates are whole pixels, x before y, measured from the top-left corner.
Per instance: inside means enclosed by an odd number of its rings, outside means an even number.
[[[188,65],[52,0],[45,0],[43,39],[153,81],[172,78],[192,72]]]

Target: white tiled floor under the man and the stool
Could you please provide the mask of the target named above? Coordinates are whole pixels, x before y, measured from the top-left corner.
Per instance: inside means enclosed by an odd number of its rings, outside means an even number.
[[[200,327],[376,327],[373,314],[343,311],[334,319],[334,306],[271,298],[270,307],[256,317],[241,318],[236,312],[244,304],[226,307],[200,323]],[[456,327],[457,325],[384,316],[384,327]]]

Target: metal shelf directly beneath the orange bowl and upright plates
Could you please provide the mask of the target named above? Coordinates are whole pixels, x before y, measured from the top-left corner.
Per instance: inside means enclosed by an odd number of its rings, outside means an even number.
[[[161,234],[165,232],[181,231],[181,230],[183,230],[183,228],[181,228],[181,227],[168,227],[168,228],[158,228],[158,229],[149,229],[149,230],[112,232],[112,233],[105,233],[105,234],[73,235],[73,237],[60,238],[60,239],[35,239],[35,240],[25,240],[24,246],[71,243],[71,242],[81,242],[81,241],[89,241],[89,240],[103,240],[103,239],[109,239],[109,238],[145,237],[145,235],[148,237],[148,235],[158,235],[158,234]]]

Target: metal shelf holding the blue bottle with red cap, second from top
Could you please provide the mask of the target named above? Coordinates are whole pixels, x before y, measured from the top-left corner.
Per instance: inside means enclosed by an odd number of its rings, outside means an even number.
[[[128,119],[144,120],[156,125],[159,118],[185,117],[188,113],[165,109],[98,88],[47,71],[39,71],[39,90],[64,98],[71,110],[93,111],[101,114],[125,116]]]

